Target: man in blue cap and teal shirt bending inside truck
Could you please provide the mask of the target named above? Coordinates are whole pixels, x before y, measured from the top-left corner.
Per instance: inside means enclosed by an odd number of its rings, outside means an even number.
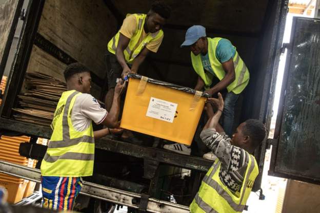
[[[195,90],[201,91],[205,88],[205,92],[210,96],[224,89],[228,90],[223,112],[223,129],[231,136],[235,103],[249,82],[248,68],[228,39],[206,37],[206,28],[201,25],[194,25],[187,30],[186,40],[181,47],[191,49],[192,66],[198,74]],[[219,79],[216,84],[212,83],[214,77]],[[174,145],[164,148],[175,152]],[[190,153],[187,147],[180,149],[184,151],[180,152],[182,154]],[[206,158],[206,155],[204,157]]]

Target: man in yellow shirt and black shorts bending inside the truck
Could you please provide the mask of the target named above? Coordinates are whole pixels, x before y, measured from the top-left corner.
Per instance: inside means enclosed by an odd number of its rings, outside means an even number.
[[[149,52],[157,52],[164,37],[162,28],[169,16],[170,8],[165,3],[154,2],[148,14],[127,14],[121,29],[109,41],[106,60],[110,61],[111,69],[107,70],[107,110],[112,105],[116,79],[124,78],[127,73],[137,73]],[[124,131],[122,139],[139,143],[130,131]]]

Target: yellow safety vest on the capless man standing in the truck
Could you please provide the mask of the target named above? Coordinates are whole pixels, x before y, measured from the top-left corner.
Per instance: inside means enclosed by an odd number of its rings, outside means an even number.
[[[130,14],[127,14],[127,16]],[[159,30],[155,33],[148,33],[148,35],[138,44],[139,38],[144,31],[144,24],[147,17],[147,14],[133,14],[136,19],[137,28],[133,36],[131,37],[127,48],[124,51],[125,59],[127,63],[132,63],[133,59],[142,51],[142,49],[152,40],[157,40],[163,36],[163,31]],[[115,54],[116,47],[118,46],[120,32],[117,32],[113,38],[108,43],[109,52]]]

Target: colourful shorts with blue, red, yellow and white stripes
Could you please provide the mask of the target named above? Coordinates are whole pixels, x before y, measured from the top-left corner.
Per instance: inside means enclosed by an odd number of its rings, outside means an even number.
[[[72,210],[75,198],[82,188],[82,178],[49,177],[42,180],[43,208]]]

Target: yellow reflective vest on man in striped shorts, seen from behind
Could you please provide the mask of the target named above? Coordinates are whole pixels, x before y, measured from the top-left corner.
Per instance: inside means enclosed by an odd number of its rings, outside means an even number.
[[[64,92],[51,124],[53,133],[41,163],[42,176],[84,177],[93,173],[94,137],[92,123],[78,132],[71,122],[74,101],[82,93]]]

